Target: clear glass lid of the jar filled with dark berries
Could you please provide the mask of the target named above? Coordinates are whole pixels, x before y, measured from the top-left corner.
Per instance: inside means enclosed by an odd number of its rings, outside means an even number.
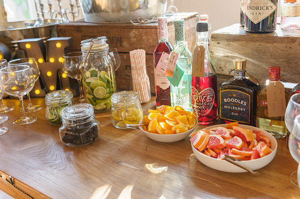
[[[89,103],[77,103],[69,105],[61,110],[62,123],[65,126],[76,126],[95,119],[93,105]]]

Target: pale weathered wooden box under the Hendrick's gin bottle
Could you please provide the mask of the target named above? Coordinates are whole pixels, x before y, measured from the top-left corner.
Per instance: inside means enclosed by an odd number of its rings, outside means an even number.
[[[273,33],[254,34],[233,24],[212,32],[210,55],[218,78],[226,78],[233,59],[246,58],[247,72],[260,84],[268,79],[270,66],[281,67],[283,82],[300,82],[300,30],[283,30],[278,24]]]

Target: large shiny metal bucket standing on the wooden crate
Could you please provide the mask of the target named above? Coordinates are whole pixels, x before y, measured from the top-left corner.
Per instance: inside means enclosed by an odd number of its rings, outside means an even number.
[[[79,0],[86,22],[130,22],[166,11],[167,0]]]

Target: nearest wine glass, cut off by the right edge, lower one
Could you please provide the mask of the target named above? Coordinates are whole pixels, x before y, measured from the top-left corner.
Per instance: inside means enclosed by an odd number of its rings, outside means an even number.
[[[289,136],[289,150],[292,157],[300,163],[300,115],[296,116],[294,125],[290,131]],[[297,171],[291,174],[291,182],[299,187],[300,182],[300,167],[298,166],[298,177],[296,176]],[[298,179],[298,183],[297,180]]]

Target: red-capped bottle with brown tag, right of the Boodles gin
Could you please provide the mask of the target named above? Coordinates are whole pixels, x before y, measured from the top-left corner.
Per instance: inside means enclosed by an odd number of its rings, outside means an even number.
[[[269,67],[269,82],[280,81],[280,67]],[[289,103],[290,94],[285,90],[286,106]],[[284,116],[269,117],[267,88],[261,88],[257,95],[257,111],[256,111],[256,127],[268,131],[275,137],[285,137],[287,135],[287,127]]]

